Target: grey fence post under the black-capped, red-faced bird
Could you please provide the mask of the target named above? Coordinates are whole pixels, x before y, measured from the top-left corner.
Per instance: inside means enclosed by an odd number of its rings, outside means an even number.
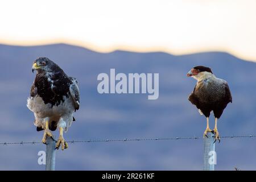
[[[214,165],[216,164],[216,151],[214,134],[207,133],[207,137],[204,138],[204,171],[214,171]]]

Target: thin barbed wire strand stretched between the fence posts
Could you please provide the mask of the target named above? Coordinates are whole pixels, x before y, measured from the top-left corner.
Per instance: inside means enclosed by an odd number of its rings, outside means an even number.
[[[232,136],[224,136],[224,138],[255,138],[256,134],[253,135],[232,135]],[[69,140],[67,143],[90,143],[90,142],[129,142],[129,141],[160,141],[160,140],[183,140],[183,139],[203,139],[204,137],[171,137],[171,138],[125,138],[125,139],[94,139],[94,140]],[[56,140],[55,140],[56,142]],[[2,142],[0,145],[7,146],[9,144],[39,144],[42,142]]]

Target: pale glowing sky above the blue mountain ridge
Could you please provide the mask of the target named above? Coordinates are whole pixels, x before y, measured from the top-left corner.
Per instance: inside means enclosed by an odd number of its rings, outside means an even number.
[[[0,43],[100,52],[225,51],[256,61],[256,1],[0,1]]]

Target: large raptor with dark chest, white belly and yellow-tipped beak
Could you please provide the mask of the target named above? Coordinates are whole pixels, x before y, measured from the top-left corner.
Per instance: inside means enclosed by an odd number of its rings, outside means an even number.
[[[42,142],[46,143],[51,131],[60,130],[56,148],[68,148],[63,138],[63,130],[67,131],[75,121],[73,114],[79,109],[80,96],[78,82],[68,77],[64,71],[47,57],[39,57],[34,61],[32,72],[37,71],[31,86],[27,107],[35,115],[36,130],[44,130]],[[50,131],[51,130],[51,131]]]

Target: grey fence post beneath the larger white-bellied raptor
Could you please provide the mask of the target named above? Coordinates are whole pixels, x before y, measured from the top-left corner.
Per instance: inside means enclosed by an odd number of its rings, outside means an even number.
[[[47,136],[46,143],[46,171],[55,171],[56,142]]]

